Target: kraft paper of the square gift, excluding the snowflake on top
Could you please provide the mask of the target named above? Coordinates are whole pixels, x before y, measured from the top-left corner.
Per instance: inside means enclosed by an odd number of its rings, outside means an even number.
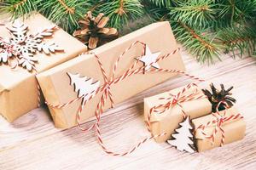
[[[41,14],[32,14],[28,19],[21,20],[28,26],[29,34],[36,34],[39,30],[54,26]],[[7,27],[11,23],[6,23]],[[0,37],[10,37],[6,26],[0,26]],[[76,57],[87,50],[82,42],[79,42],[61,28],[54,31],[52,37],[44,38],[43,42],[55,42],[63,51],[54,54],[37,52],[36,68],[38,72],[46,71],[55,65],[59,65],[68,59]],[[38,107],[38,88],[35,71],[29,72],[18,66],[15,71],[9,65],[0,65],[0,114],[7,121],[13,122],[17,117]]]

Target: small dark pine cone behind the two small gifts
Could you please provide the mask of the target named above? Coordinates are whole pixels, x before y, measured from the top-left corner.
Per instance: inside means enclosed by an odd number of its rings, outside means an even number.
[[[227,103],[228,107],[231,107],[236,103],[236,99],[232,98],[230,95],[230,91],[233,89],[233,86],[228,88],[227,90],[224,89],[224,85],[220,84],[220,90],[214,87],[211,83],[210,87],[212,89],[212,93],[207,89],[203,89],[203,93],[207,95],[207,98],[212,103],[212,112],[216,112],[218,103],[224,101]],[[218,106],[218,111],[223,111],[225,109],[225,105],[222,103]]]

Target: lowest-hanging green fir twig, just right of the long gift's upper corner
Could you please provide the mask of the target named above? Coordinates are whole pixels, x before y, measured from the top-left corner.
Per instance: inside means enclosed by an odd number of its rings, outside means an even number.
[[[215,59],[220,60],[218,57],[220,46],[213,42],[214,37],[207,30],[195,31],[181,21],[172,22],[172,24],[177,41],[182,42],[199,62],[211,64]]]

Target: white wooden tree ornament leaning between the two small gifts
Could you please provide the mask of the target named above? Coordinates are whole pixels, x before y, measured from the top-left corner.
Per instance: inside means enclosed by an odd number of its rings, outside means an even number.
[[[191,133],[193,127],[191,126],[189,116],[187,116],[183,122],[179,123],[179,125],[181,127],[175,130],[177,133],[172,134],[174,139],[167,140],[167,142],[173,146],[176,146],[177,150],[185,150],[190,153],[194,153],[193,134]]]

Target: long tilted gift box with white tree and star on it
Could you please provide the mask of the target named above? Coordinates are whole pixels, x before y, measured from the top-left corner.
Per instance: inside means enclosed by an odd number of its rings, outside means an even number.
[[[97,91],[96,87],[109,88],[111,95],[108,95],[105,102],[104,110],[106,110],[112,104],[118,104],[176,76],[177,73],[173,72],[163,70],[157,73],[149,70],[172,68],[184,71],[183,60],[177,50],[171,26],[168,22],[159,22],[39,74],[38,82],[46,101],[50,104],[49,111],[55,126],[67,128],[77,125],[77,111],[81,102],[83,105],[86,103],[84,110],[79,114],[81,122],[95,116],[96,105],[102,100],[103,92],[99,90],[99,93],[81,99],[83,98],[81,94],[86,90],[90,91],[89,88],[95,89],[92,90],[93,93]],[[143,58],[143,55],[148,57]],[[160,56],[164,56],[165,59]],[[80,88],[77,87],[79,84]],[[76,99],[78,97],[79,100]],[[90,101],[87,101],[89,98]]]

